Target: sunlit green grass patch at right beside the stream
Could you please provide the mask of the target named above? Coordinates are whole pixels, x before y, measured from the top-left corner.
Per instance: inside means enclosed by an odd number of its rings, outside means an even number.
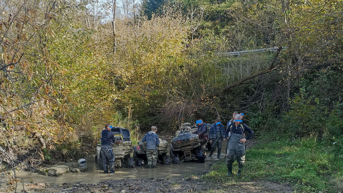
[[[262,141],[262,140],[260,140]],[[225,177],[225,161],[212,166],[212,171],[203,178],[223,181],[233,185],[239,181],[270,180],[291,183],[295,192],[341,191],[343,188],[342,155],[333,152],[333,145],[326,145],[314,138],[276,142],[264,142],[247,150],[244,176]],[[235,162],[234,174],[238,165]]]

